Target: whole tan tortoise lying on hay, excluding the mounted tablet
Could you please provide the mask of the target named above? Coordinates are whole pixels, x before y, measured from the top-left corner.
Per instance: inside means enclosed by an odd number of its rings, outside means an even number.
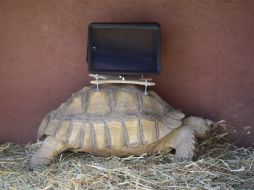
[[[175,150],[179,160],[194,156],[196,137],[213,122],[187,117],[136,85],[87,86],[42,120],[37,138],[44,142],[29,161],[34,169],[51,163],[65,150],[102,156],[129,156]]]

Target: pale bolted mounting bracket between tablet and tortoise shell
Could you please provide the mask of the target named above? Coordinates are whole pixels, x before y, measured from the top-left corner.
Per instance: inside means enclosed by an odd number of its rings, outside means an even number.
[[[105,76],[105,75],[98,75],[98,74],[89,74],[90,77],[95,78],[95,80],[91,80],[91,84],[96,85],[96,90],[99,90],[99,85],[100,84],[112,84],[112,83],[121,83],[121,84],[136,84],[136,85],[141,85],[145,86],[145,91],[144,94],[148,95],[147,88],[148,86],[155,86],[154,82],[152,81],[151,78],[143,78],[143,75],[139,79],[132,79],[132,80],[127,80],[126,76],[120,75],[119,77],[112,77],[112,76]]]

